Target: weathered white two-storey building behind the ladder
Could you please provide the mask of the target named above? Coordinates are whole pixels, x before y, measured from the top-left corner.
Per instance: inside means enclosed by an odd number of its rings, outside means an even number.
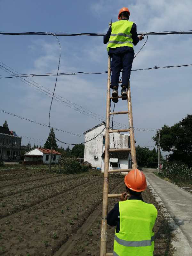
[[[91,140],[95,136],[98,137]],[[105,123],[98,124],[92,129],[84,132],[85,141],[91,140],[85,143],[84,148],[84,161],[92,164],[92,167],[101,168],[104,171],[104,150],[105,150]],[[114,134],[114,142],[113,142]],[[109,148],[130,148],[130,134],[114,132],[109,134],[110,146]],[[131,154],[130,152],[113,152],[110,154],[109,166],[110,169],[119,169],[119,164],[121,169],[131,168]]]

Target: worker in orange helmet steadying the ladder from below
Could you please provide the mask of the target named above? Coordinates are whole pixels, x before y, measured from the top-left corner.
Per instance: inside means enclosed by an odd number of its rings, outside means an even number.
[[[138,169],[124,178],[126,190],[120,202],[107,215],[107,223],[116,226],[114,256],[152,256],[154,251],[153,227],[157,210],[143,201],[141,192],[147,188],[146,178]],[[128,199],[128,200],[127,200]]]

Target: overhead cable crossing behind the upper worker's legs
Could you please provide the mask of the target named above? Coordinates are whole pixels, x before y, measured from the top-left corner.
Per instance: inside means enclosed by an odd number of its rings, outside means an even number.
[[[159,67],[155,66],[153,68],[132,69],[131,71],[151,70],[151,69],[159,69],[159,68],[181,68],[181,67],[191,67],[191,66],[192,66],[192,64],[175,65],[175,66],[159,66]],[[78,75],[78,74],[90,75],[90,74],[106,74],[106,73],[107,73],[107,71],[104,71],[104,72],[90,71],[90,72],[59,73],[58,76]],[[0,75],[0,76],[2,76],[2,75]],[[11,76],[0,77],[0,79],[1,78],[14,78],[14,77],[28,77],[28,76],[56,76],[56,74],[52,74],[52,73],[45,73],[45,74],[21,74],[21,75],[12,74]]]

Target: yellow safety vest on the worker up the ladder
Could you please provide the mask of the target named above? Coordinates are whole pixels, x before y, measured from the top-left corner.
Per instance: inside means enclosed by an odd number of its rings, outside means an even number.
[[[129,20],[119,20],[111,25],[111,36],[109,38],[107,50],[122,46],[133,48],[132,34],[130,33],[133,22]]]

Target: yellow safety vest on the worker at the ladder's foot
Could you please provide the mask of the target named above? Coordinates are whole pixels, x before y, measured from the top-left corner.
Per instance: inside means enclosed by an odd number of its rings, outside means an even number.
[[[115,233],[113,256],[153,256],[153,226],[157,210],[141,200],[119,202],[120,230]]]

